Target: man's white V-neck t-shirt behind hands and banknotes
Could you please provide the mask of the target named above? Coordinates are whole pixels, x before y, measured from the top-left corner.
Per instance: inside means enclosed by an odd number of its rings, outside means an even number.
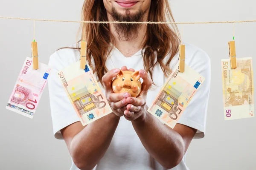
[[[210,59],[200,48],[189,44],[185,45],[186,64],[205,77],[205,82],[198,89],[178,123],[197,129],[198,131],[194,138],[203,138],[206,127],[211,79]],[[72,46],[75,47],[76,45]],[[144,69],[141,52],[142,50],[131,57],[125,57],[118,49],[114,48],[110,54],[111,57],[106,62],[106,66],[108,70],[121,68],[124,65],[128,68],[134,68],[135,71]],[[77,62],[79,59],[80,53],[78,50],[65,48],[55,51],[52,54],[49,60],[49,66],[52,68],[52,73],[55,74],[55,72]],[[176,64],[178,64],[178,54],[176,54],[170,63],[171,68]],[[153,90],[148,91],[146,100],[148,106],[151,105],[161,87],[166,82],[166,78],[159,64],[154,68],[153,80],[158,87],[153,87]],[[60,130],[74,122],[78,122],[79,118],[55,75],[49,77],[48,85],[54,136],[56,139],[63,139]],[[105,94],[100,83],[99,85]],[[172,170],[189,170],[185,164],[185,157],[186,154],[180,164],[172,168]],[[73,163],[73,160],[70,170],[79,170]],[[155,161],[147,150],[145,150],[131,122],[122,116],[107,152],[93,170],[165,170],[165,168]]]

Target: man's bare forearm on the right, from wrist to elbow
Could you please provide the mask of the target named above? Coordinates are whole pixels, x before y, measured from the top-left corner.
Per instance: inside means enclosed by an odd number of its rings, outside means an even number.
[[[182,136],[146,111],[146,116],[132,121],[143,146],[163,167],[175,167],[185,154]]]

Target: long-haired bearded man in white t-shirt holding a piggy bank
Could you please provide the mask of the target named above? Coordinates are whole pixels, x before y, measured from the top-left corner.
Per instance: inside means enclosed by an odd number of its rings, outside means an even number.
[[[82,9],[83,20],[160,22],[166,16],[173,20],[168,0],[86,0]],[[186,150],[193,138],[204,137],[206,126],[210,59],[204,51],[186,44],[186,64],[206,80],[175,128],[147,112],[178,64],[180,41],[174,28],[165,24],[85,24],[87,62],[113,113],[83,127],[58,80],[49,79],[54,135],[67,144],[73,161],[70,170],[189,169]],[[71,46],[52,54],[49,65],[58,71],[79,57],[79,50]],[[140,70],[140,96],[113,93],[111,81],[119,68]]]

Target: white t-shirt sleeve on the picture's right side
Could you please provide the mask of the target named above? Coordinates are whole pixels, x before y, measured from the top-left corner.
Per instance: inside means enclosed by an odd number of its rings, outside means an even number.
[[[183,124],[197,129],[195,139],[203,138],[206,129],[207,106],[209,100],[210,81],[211,81],[211,63],[208,55],[201,49],[196,51],[189,60],[188,64],[196,72],[201,74],[205,81],[198,88],[189,105],[180,116],[179,124]]]

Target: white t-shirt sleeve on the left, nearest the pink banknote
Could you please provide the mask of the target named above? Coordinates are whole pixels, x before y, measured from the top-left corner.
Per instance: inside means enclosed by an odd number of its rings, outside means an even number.
[[[61,54],[55,51],[49,59],[48,65],[52,68],[52,75],[48,80],[49,101],[53,133],[56,139],[63,139],[60,132],[61,129],[79,121],[79,117],[57,77],[57,72],[70,65],[72,62],[76,62],[74,57],[72,58],[72,55],[69,56],[68,53],[65,54],[65,51],[62,51]]]

